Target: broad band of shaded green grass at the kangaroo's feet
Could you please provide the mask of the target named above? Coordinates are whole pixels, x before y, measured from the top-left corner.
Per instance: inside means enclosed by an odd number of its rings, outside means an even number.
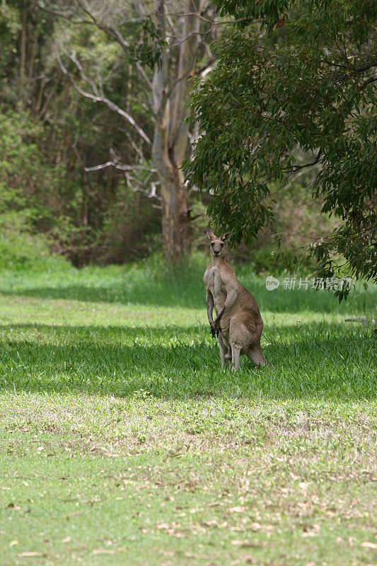
[[[33,335],[36,330],[41,335]],[[118,397],[142,391],[158,398],[376,397],[376,340],[365,332],[302,333],[287,343],[273,340],[264,348],[268,369],[255,371],[243,357],[236,374],[221,371],[216,344],[192,327],[14,325],[0,327],[0,332],[2,391]],[[288,335],[289,330],[280,332]],[[52,343],[44,343],[42,333]],[[71,343],[59,343],[64,341]]]

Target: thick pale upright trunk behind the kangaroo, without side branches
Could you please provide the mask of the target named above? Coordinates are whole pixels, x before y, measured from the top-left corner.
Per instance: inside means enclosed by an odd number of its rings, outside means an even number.
[[[202,0],[185,1],[182,44],[175,68],[175,86],[169,91],[168,54],[163,50],[161,65],[153,77],[153,102],[156,129],[153,137],[153,162],[161,183],[163,256],[170,265],[179,265],[190,255],[190,210],[182,173],[187,149],[187,98],[190,79],[195,74],[198,17]],[[156,0],[156,27],[164,37],[164,0]]]

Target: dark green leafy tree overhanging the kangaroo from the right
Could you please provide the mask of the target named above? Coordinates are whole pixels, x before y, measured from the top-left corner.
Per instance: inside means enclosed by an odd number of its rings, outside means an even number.
[[[313,168],[313,197],[342,220],[308,246],[318,276],[377,282],[376,2],[215,4],[243,23],[218,42],[216,69],[192,96],[203,135],[190,183],[211,190],[214,219],[250,243],[273,222],[272,183],[284,190]]]

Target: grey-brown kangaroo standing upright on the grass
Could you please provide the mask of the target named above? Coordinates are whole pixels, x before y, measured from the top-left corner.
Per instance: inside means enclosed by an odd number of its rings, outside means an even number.
[[[237,281],[236,273],[225,260],[225,243],[230,240],[231,232],[217,238],[207,228],[211,240],[211,262],[204,273],[206,302],[211,334],[216,335],[219,343],[221,368],[232,360],[232,369],[240,366],[240,354],[246,354],[258,366],[267,366],[262,354],[260,336],[263,320],[253,296]],[[212,313],[215,308],[216,318]]]

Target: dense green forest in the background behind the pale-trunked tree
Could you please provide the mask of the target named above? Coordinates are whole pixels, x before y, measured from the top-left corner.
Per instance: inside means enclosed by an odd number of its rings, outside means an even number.
[[[114,9],[114,3],[107,4]],[[152,139],[153,112],[135,72],[135,60],[143,62],[142,47],[153,36],[149,20],[138,19],[129,7],[134,19],[127,13],[131,23],[122,32],[136,46],[130,61],[107,30],[54,9],[41,9],[31,0],[0,4],[1,265],[25,265],[51,252],[76,267],[140,260],[162,246],[152,148],[135,142],[132,125],[112,108],[78,92],[85,81],[72,54],[103,96],[136,117]],[[210,4],[205,10],[204,21],[210,23],[196,62],[197,73],[204,69],[204,74],[214,64],[211,42],[226,29],[214,25],[219,22]],[[182,14],[177,21],[182,22]],[[151,50],[146,53],[142,69],[152,78]],[[111,165],[98,168],[105,163]],[[134,163],[136,169],[124,170],[124,163]],[[271,270],[282,267],[271,255],[274,233],[284,236],[284,248],[300,246],[303,234],[320,238],[330,233],[337,221],[319,214],[320,200],[311,195],[315,174],[315,168],[303,169],[289,187],[274,193],[269,202],[276,219],[273,229],[262,229],[252,246],[239,246],[234,259],[258,272]],[[187,194],[187,233],[192,250],[202,250],[211,195],[196,187]]]

